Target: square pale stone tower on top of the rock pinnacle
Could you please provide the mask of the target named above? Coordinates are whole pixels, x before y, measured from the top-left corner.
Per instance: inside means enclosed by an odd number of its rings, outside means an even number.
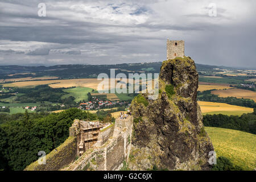
[[[167,39],[167,60],[184,57],[184,40]]]

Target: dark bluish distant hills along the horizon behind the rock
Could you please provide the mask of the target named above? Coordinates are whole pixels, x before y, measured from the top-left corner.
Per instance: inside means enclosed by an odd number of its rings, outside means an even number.
[[[162,62],[154,63],[127,63],[113,65],[53,65],[53,66],[20,66],[20,65],[2,65],[0,66],[0,79],[22,78],[22,77],[42,77],[57,76],[60,78],[96,78],[100,73],[110,74],[110,69],[115,69],[115,74],[125,73],[128,75],[131,71],[144,73],[159,73]],[[213,71],[214,68],[222,68],[213,65],[196,64],[197,71]],[[228,67],[226,67],[228,68]],[[214,69],[216,72],[216,69]],[[26,75],[13,75],[15,73],[27,73]],[[31,74],[32,73],[32,74]],[[10,76],[10,74],[12,74]]]

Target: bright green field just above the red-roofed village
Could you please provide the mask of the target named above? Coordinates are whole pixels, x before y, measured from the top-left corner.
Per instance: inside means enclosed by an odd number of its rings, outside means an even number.
[[[87,94],[89,92],[92,92],[92,88],[87,88],[87,87],[76,87],[72,89],[63,89],[64,92],[67,92],[68,94],[65,94],[64,96],[61,97],[61,99],[67,98],[69,96],[75,97],[75,102],[79,102],[82,100],[88,100]]]

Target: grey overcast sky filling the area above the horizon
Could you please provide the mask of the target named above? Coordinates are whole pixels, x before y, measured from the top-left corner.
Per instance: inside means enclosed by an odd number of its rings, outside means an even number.
[[[0,64],[163,61],[169,38],[185,40],[196,63],[256,68],[255,7],[255,0],[1,0]]]

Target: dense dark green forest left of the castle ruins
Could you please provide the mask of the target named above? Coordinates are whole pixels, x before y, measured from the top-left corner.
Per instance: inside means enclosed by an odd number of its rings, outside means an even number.
[[[72,108],[61,113],[0,115],[0,170],[23,170],[69,136],[74,119],[97,119],[97,114]],[[112,118],[110,118],[112,119]]]

